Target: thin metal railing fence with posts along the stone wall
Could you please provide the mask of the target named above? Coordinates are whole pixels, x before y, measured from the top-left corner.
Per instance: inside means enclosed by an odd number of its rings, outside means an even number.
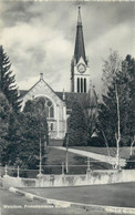
[[[19,166],[12,167],[12,166],[1,166],[0,167],[0,175],[9,175],[9,176],[21,176],[21,177],[29,177],[29,178],[35,178],[37,175],[41,172],[42,174],[45,175],[61,175],[61,174],[66,174],[66,175],[80,175],[80,174],[86,174],[87,171],[94,170],[93,168],[93,163],[95,167],[95,163],[98,164],[96,170],[112,170],[112,165],[106,164],[104,165],[103,162],[98,161],[90,161],[87,158],[85,162],[83,162],[80,165],[73,165],[73,164],[65,164],[62,162],[62,164],[53,164],[53,165],[39,165],[38,170],[28,170],[28,168],[20,168]],[[105,168],[106,167],[106,168]]]

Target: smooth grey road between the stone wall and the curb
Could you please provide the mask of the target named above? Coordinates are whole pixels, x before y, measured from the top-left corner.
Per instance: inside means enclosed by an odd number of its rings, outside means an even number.
[[[135,182],[76,187],[22,188],[42,197],[120,207],[135,207]]]

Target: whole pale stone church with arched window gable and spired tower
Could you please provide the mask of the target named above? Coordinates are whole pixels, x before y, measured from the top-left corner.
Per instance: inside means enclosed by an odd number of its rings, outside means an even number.
[[[83,38],[83,25],[81,9],[79,7],[76,38],[74,55],[71,60],[71,92],[54,92],[45,82],[43,73],[40,73],[39,81],[28,91],[20,91],[22,110],[28,100],[45,100],[45,113],[49,125],[49,137],[51,140],[63,140],[66,133],[66,120],[72,112],[74,101],[89,98],[90,109],[97,109],[97,96],[94,88],[91,86],[91,73],[89,60],[85,55]]]

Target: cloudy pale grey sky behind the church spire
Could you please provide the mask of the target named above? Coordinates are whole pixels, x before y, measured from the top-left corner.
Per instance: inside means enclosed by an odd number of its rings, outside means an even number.
[[[97,93],[110,49],[122,59],[134,55],[135,2],[83,1],[81,16],[90,74]],[[0,0],[0,44],[12,63],[17,85],[29,90],[40,79],[54,91],[70,91],[74,53],[76,1]]]

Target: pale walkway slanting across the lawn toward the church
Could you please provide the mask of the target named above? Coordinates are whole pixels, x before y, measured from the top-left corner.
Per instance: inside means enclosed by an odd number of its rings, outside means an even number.
[[[62,147],[62,146],[52,146],[56,150],[63,150],[63,151],[66,151],[65,147]],[[104,162],[104,163],[108,163],[108,164],[115,164],[116,163],[116,157],[113,157],[113,156],[107,156],[107,155],[103,155],[103,154],[96,154],[96,153],[93,153],[93,152],[86,152],[86,151],[82,151],[82,150],[75,150],[75,149],[68,149],[69,152],[71,153],[74,153],[74,154],[79,154],[79,155],[82,155],[82,156],[86,156],[86,157],[91,157],[91,158],[94,158],[94,160],[97,160],[97,161],[101,161],[101,162]],[[124,158],[121,158],[121,166],[125,166],[125,160]]]

